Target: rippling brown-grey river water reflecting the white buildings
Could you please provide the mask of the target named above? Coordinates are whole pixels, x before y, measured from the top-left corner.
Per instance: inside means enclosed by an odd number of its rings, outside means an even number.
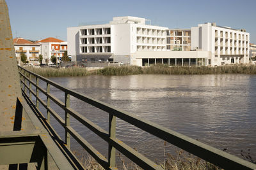
[[[51,78],[64,87],[112,104],[145,120],[198,139],[207,145],[241,157],[241,150],[256,155],[256,76],[246,74],[214,75],[132,75]],[[51,93],[64,100],[59,90]],[[71,97],[76,111],[108,131],[108,114]],[[64,113],[56,105],[61,117]],[[122,120],[116,120],[116,136],[151,160],[162,159],[161,139]],[[64,131],[52,118],[60,136]],[[108,144],[82,124],[71,120],[81,136],[108,157]],[[72,140],[72,149],[81,147]]]

